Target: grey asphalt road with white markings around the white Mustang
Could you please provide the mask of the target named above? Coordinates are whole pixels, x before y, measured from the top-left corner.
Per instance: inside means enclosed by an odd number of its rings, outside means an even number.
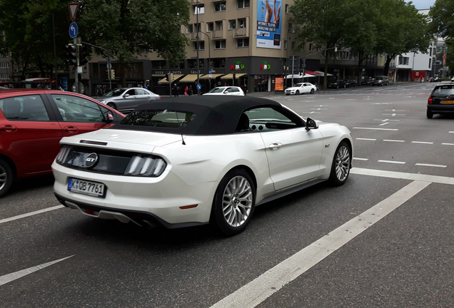
[[[52,178],[21,182],[0,199],[0,307],[454,307],[454,117],[425,117],[432,88],[257,94],[346,125],[354,168],[235,237],[94,220]]]

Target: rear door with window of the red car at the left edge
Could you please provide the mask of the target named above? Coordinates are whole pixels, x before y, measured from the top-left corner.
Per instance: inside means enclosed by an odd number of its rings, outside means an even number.
[[[39,94],[0,100],[0,147],[9,155],[20,176],[51,171],[63,137],[46,99]]]

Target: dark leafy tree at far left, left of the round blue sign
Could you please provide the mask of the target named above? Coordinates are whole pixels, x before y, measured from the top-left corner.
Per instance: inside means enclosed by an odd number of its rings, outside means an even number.
[[[53,22],[54,19],[54,22]],[[13,61],[27,72],[39,70],[41,77],[53,76],[54,27],[57,62],[61,63],[64,44],[68,41],[68,2],[63,0],[0,0],[0,31],[5,41],[0,51],[11,52]]]

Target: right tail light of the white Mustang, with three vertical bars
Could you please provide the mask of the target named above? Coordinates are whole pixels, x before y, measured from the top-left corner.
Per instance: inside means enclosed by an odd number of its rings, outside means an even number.
[[[167,163],[162,158],[136,155],[131,158],[124,174],[158,177],[166,170],[166,167]]]

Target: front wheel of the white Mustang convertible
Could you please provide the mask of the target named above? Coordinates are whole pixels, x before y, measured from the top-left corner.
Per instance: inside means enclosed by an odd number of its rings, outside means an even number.
[[[333,186],[343,185],[350,175],[351,148],[342,141],[334,153],[329,181]]]

